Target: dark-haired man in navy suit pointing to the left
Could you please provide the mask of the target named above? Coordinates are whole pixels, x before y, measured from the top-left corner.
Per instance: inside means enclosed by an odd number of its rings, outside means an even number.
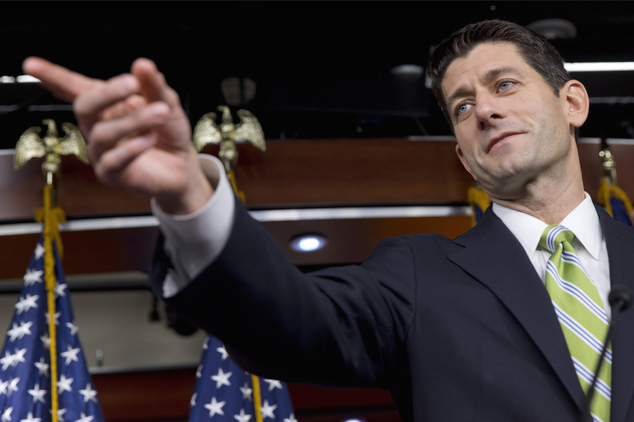
[[[564,233],[548,228],[559,223],[572,230],[568,243],[557,240],[560,260],[578,255],[584,270],[575,274],[594,289],[588,297],[606,324],[610,284],[634,287],[634,233],[583,191],[575,133],[588,95],[543,38],[483,22],[452,35],[430,63],[458,156],[494,202],[480,223],[454,240],[386,239],[360,266],[309,275],[232,197],[218,165],[197,158],[178,98],[153,63],[139,59],[131,75],[108,81],[35,58],[24,68],[74,101],[97,176],[153,197],[165,234],[151,271],[156,293],[245,369],[386,388],[406,421],[579,420],[585,358],[560,324],[568,311],[557,295],[567,293],[553,290],[557,253],[544,233]],[[562,252],[570,245],[576,255]],[[632,327],[625,312],[596,420],[634,420]]]

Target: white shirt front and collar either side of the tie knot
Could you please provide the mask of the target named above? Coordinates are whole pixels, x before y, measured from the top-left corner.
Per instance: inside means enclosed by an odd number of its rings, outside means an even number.
[[[508,229],[515,235],[524,247],[526,255],[535,267],[535,271],[545,282],[546,264],[550,258],[550,252],[539,247],[539,239],[548,227],[543,221],[520,211],[493,204],[493,212]],[[608,262],[608,249],[599,215],[592,204],[590,195],[585,194],[585,199],[570,214],[563,219],[562,226],[570,229],[575,240],[572,247],[575,249],[581,264],[597,286],[599,296],[603,302],[603,308],[610,316],[608,295],[610,293],[610,266]]]

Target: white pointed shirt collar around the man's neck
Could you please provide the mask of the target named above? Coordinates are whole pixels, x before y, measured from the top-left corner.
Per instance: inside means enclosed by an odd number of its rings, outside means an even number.
[[[548,224],[531,215],[496,203],[493,203],[493,212],[519,240],[526,254],[532,256]],[[560,224],[575,234],[592,258],[599,259],[603,231],[590,195],[585,193],[584,200]]]

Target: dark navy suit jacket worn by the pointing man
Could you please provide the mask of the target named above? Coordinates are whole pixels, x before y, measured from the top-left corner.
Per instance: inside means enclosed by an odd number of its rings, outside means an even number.
[[[598,209],[612,284],[634,289],[634,229]],[[160,294],[169,259],[151,270]],[[584,395],[550,298],[491,211],[454,240],[381,241],[304,275],[236,202],[220,257],[168,302],[267,378],[389,389],[404,421],[577,421]],[[612,422],[634,421],[634,311],[613,340]]]

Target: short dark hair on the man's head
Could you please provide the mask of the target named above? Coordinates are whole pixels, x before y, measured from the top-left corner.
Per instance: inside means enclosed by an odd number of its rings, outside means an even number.
[[[555,47],[530,29],[497,19],[467,25],[438,44],[427,65],[432,93],[452,131],[451,114],[447,110],[441,87],[447,68],[455,59],[466,56],[477,45],[495,42],[515,44],[526,63],[544,78],[557,97],[559,89],[571,79],[564,68],[564,60]]]

